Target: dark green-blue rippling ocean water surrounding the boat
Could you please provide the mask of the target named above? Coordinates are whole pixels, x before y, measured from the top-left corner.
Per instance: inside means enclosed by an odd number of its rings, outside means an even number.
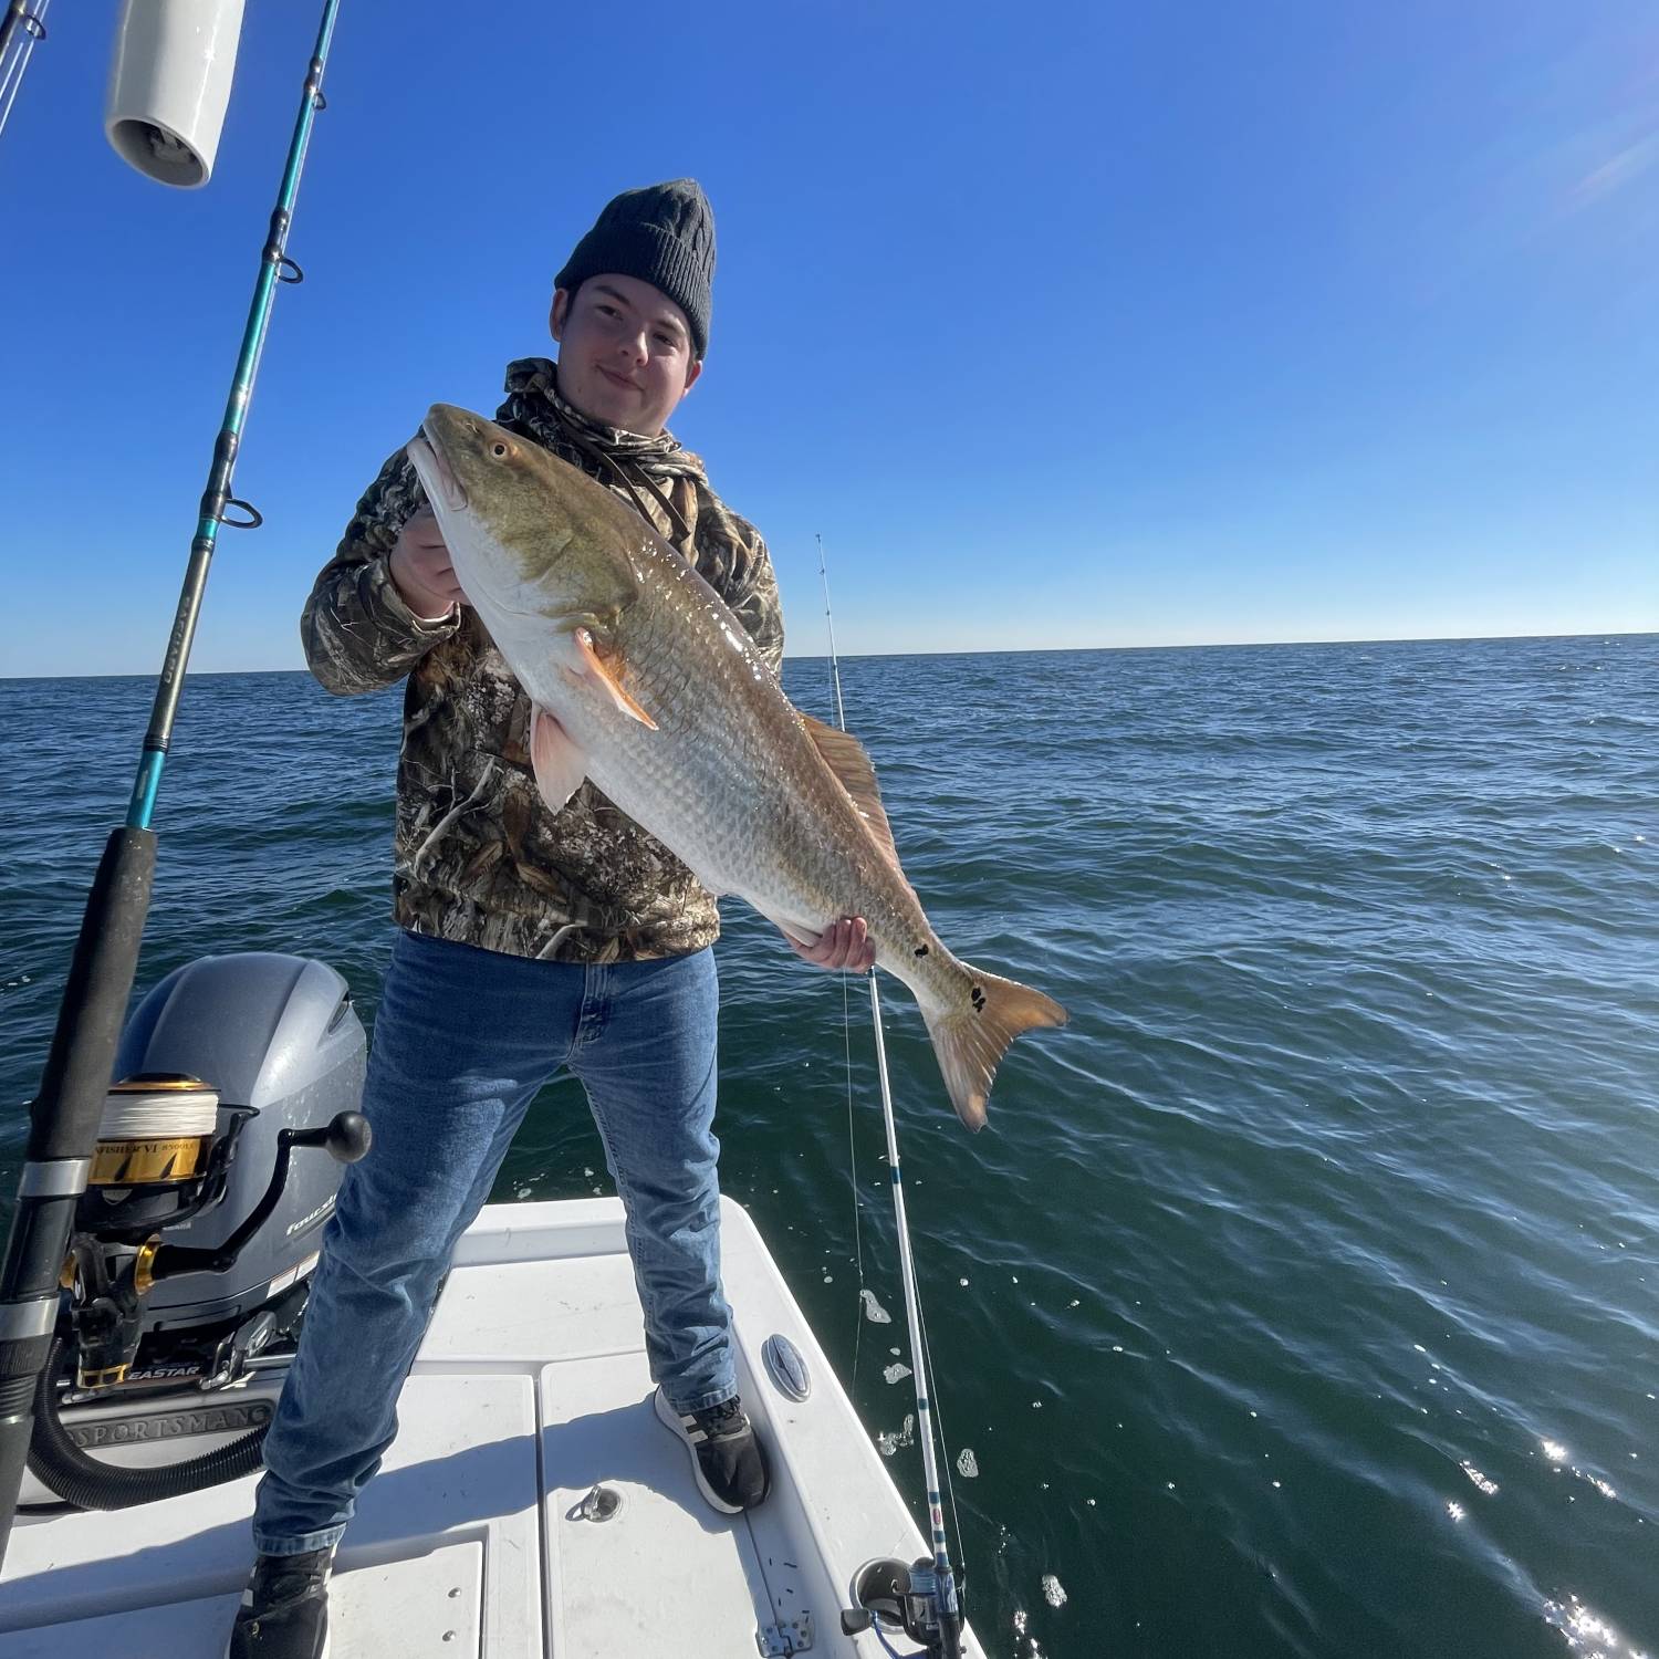
[[[941,936],[1072,1010],[969,1136],[886,982],[992,1654],[1659,1652],[1656,667],[1636,635],[843,664]],[[828,710],[823,662],[786,684]],[[7,1191],[148,705],[0,684]],[[372,1017],[397,732],[395,693],[192,679],[141,984],[299,951]],[[725,912],[725,1186],[891,1445],[868,999]],[[602,1171],[554,1087],[496,1198]],[[889,1468],[919,1505],[914,1445]]]

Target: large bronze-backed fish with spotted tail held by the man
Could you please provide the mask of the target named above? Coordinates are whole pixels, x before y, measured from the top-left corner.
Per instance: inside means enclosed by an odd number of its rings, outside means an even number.
[[[443,403],[410,460],[468,601],[556,722],[539,727],[549,808],[586,775],[710,891],[803,942],[863,916],[979,1128],[1009,1042],[1063,1025],[1065,1010],[939,941],[883,833],[863,750],[803,717],[702,576],[576,468]]]

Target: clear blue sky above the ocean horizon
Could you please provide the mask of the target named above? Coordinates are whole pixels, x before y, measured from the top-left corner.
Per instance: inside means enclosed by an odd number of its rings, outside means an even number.
[[[251,0],[211,186],[108,149],[116,7],[0,136],[0,674],[151,672],[315,30]],[[343,0],[199,669],[299,667],[435,400],[552,353],[617,189],[720,227],[677,416],[790,649],[1659,627],[1646,3]]]

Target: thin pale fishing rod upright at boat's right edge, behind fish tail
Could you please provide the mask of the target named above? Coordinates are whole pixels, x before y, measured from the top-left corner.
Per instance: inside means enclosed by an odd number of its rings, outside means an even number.
[[[825,589],[825,620],[830,625],[830,674],[834,684],[836,725],[846,730],[846,703],[841,698],[841,660],[834,649],[834,617],[830,611],[830,569],[825,564],[825,539],[818,538],[818,576]],[[854,1598],[866,1609],[869,1621],[879,1613],[902,1624],[906,1636],[922,1642],[929,1659],[961,1659],[962,1611],[957,1601],[956,1573],[951,1568],[951,1548],[944,1533],[944,1505],[939,1496],[939,1460],[934,1450],[932,1365],[927,1359],[927,1337],[922,1329],[921,1296],[916,1287],[916,1258],[911,1253],[911,1228],[904,1213],[904,1178],[899,1168],[899,1130],[893,1118],[893,1083],[888,1078],[888,1045],[881,1027],[881,989],[876,971],[864,975],[869,980],[869,1017],[876,1032],[876,1075],[881,1080],[881,1120],[888,1131],[888,1168],[893,1183],[893,1219],[899,1243],[899,1279],[904,1286],[904,1316],[911,1337],[911,1372],[916,1377],[916,1437],[922,1448],[922,1478],[927,1485],[927,1520],[932,1528],[932,1566],[917,1561],[873,1561],[863,1568],[854,1584]],[[853,1623],[849,1623],[849,1619]],[[854,1634],[858,1614],[843,1614],[841,1627]],[[881,1637],[881,1626],[876,1624]],[[886,1647],[886,1639],[883,1637]],[[893,1649],[888,1649],[889,1652]]]

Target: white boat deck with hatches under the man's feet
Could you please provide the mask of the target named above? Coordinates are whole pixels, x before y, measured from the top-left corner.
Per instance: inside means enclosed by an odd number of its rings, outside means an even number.
[[[333,1659],[881,1659],[874,1634],[841,1632],[853,1573],[927,1550],[755,1224],[723,1203],[766,1503],[732,1520],[710,1510],[652,1413],[620,1203],[493,1204],[461,1243],[401,1430],[340,1546]],[[801,1404],[761,1360],[775,1332],[811,1374]],[[254,1480],[20,1516],[0,1659],[219,1659],[247,1578]],[[579,1513],[596,1483],[622,1495],[611,1520]],[[971,1634],[964,1652],[982,1659]]]

